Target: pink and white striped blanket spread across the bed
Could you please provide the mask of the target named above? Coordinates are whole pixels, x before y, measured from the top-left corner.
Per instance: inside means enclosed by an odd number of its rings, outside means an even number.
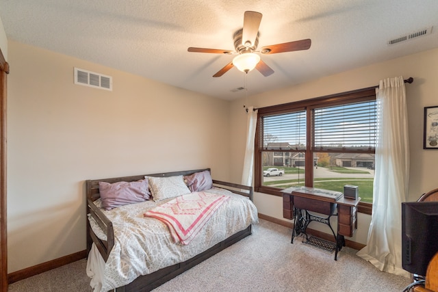
[[[181,241],[186,245],[229,198],[229,196],[194,191],[157,206],[144,213],[144,216],[164,222],[175,242]]]

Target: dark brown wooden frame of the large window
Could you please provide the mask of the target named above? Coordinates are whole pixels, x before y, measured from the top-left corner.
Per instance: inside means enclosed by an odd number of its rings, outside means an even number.
[[[355,103],[361,101],[372,101],[376,100],[376,88],[363,88],[360,90],[352,90],[349,92],[342,92],[339,94],[331,94],[327,96],[321,96],[317,98],[310,98],[302,101],[296,101],[292,103],[284,103],[281,105],[272,105],[270,107],[261,107],[258,109],[257,113],[257,128],[255,132],[255,191],[270,194],[273,196],[283,196],[281,189],[274,187],[268,187],[263,185],[263,166],[262,166],[262,152],[272,151],[278,152],[278,150],[261,149],[261,118],[263,116],[272,116],[276,114],[286,114],[290,111],[298,111],[300,109],[305,109],[306,114],[306,148],[305,150],[300,150],[299,152],[305,152],[305,185],[307,187],[313,187],[313,153],[317,153],[318,150],[312,149],[312,139],[313,139],[313,109],[320,107],[328,107],[335,105],[342,105],[346,103]],[[297,152],[296,150],[290,150],[286,152]],[[321,151],[319,151],[321,152]],[[322,152],[327,152],[326,150]],[[333,151],[338,152],[338,151]],[[375,150],[342,150],[342,152],[350,153],[372,153],[375,154]],[[359,202],[358,211],[361,213],[369,214],[372,213],[372,204]]]

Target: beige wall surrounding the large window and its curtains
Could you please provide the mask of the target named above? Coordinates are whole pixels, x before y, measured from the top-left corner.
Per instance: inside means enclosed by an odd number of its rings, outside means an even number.
[[[281,103],[289,103],[306,98],[325,96],[349,90],[368,88],[378,85],[378,81],[387,77],[413,77],[414,82],[407,84],[409,141],[411,149],[411,171],[409,182],[409,200],[417,200],[421,194],[438,187],[436,173],[438,165],[437,150],[423,150],[423,112],[424,107],[438,105],[438,49],[417,53],[407,57],[393,59],[388,62],[357,68],[341,74],[332,75],[256,96],[250,96],[247,105],[266,107]],[[257,72],[256,72],[257,73]],[[250,83],[250,75],[248,75]],[[248,88],[250,90],[250,88]],[[244,157],[246,114],[242,109],[244,100],[234,101],[231,107],[231,175],[235,181],[240,179],[242,159]],[[360,191],[359,191],[360,193]],[[259,213],[283,219],[281,198],[266,194],[255,194],[255,203]],[[358,231],[352,240],[366,243],[370,216],[359,214]],[[311,223],[310,228],[319,228],[317,223]],[[313,225],[315,224],[315,225]],[[324,229],[325,228],[325,229]]]

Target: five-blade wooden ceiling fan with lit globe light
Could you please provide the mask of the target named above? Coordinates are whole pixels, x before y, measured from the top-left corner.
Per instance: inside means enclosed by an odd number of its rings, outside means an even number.
[[[261,22],[261,13],[254,11],[246,11],[244,14],[244,27],[235,32],[233,36],[235,51],[221,50],[221,49],[205,49],[205,48],[188,48],[189,52],[195,53],[214,53],[214,54],[238,54],[234,57],[232,62],[225,65],[224,68],[216,72],[213,77],[221,77],[228,70],[236,66],[242,72],[249,72],[256,68],[263,76],[269,76],[274,73],[263,60],[260,59],[259,54],[276,54],[292,51],[307,50],[310,48],[311,40],[296,40],[294,42],[285,42],[283,44],[272,44],[265,46],[256,51],[259,44],[259,26]]]

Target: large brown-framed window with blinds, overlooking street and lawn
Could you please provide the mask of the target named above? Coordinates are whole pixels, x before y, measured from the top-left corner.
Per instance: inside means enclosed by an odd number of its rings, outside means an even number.
[[[255,189],[281,196],[291,186],[344,191],[359,186],[371,213],[376,147],[374,88],[259,109]],[[282,176],[263,176],[279,168]]]

